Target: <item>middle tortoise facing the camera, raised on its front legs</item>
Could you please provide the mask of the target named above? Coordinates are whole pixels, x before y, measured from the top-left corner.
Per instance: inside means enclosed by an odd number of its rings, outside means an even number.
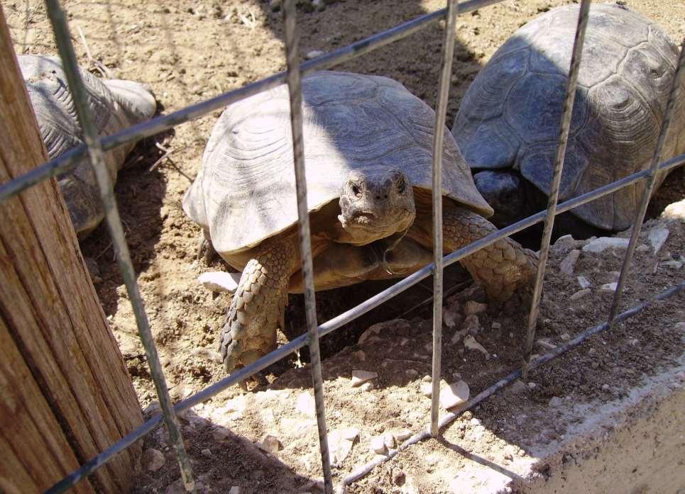
[[[432,261],[433,111],[385,77],[302,79],[314,285],[406,276]],[[444,129],[444,250],[490,232],[492,214]],[[228,106],[183,198],[210,246],[242,271],[221,330],[226,371],[275,349],[287,293],[302,293],[286,86]],[[494,301],[529,283],[537,257],[513,240],[463,259]]]

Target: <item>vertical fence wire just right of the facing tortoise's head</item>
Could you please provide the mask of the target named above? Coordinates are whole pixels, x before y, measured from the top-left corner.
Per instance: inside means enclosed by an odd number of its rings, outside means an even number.
[[[445,134],[447,97],[454,59],[454,37],[458,0],[447,0],[445,40],[442,45],[442,67],[438,84],[433,134],[433,391],[430,404],[430,430],[433,437],[439,432],[440,366],[442,358],[442,151]]]

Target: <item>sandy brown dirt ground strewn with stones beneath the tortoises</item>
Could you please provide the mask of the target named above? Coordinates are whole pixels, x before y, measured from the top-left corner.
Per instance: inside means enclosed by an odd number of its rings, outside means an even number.
[[[564,3],[569,2],[506,0],[459,18],[449,123],[468,84],[497,47],[530,18]],[[685,6],[679,2],[625,3],[657,21],[672,39],[683,37]],[[2,6],[17,52],[55,53],[42,1],[2,0]],[[435,0],[346,0],[328,5],[324,11],[300,10],[302,55],[311,50],[333,50],[442,6],[443,2]],[[65,8],[80,63],[94,71],[96,66],[104,65],[111,77],[148,84],[160,103],[160,111],[166,113],[285,69],[282,17],[280,12],[270,9],[267,1],[66,1]],[[435,23],[407,40],[337,68],[392,77],[434,106],[443,29]],[[97,62],[89,61],[87,48]],[[196,282],[203,271],[221,269],[222,264],[215,261],[208,266],[195,260],[199,229],[180,207],[219,114],[216,111],[141,142],[116,185],[129,247],[140,273],[138,281],[175,399],[185,398],[224,376],[216,339],[230,298],[211,293]],[[170,150],[170,154],[158,161],[165,155],[160,147]],[[684,197],[685,170],[681,168],[669,176],[653,199],[650,218],[657,218],[665,206]],[[684,269],[676,266],[685,255],[683,226],[669,223],[669,229],[671,235],[657,256],[638,252],[624,307],[682,281]],[[537,348],[539,352],[602,320],[610,293],[598,287],[615,281],[615,271],[620,269],[623,251],[610,250],[598,256],[583,252],[574,276],[562,274],[558,266],[569,250],[566,247],[560,244],[550,259],[538,335],[545,339],[547,347]],[[84,257],[91,259],[94,283],[104,310],[120,342],[141,404],[147,406],[155,399],[155,392],[104,225],[82,243],[82,251]],[[664,264],[668,262],[672,264]],[[569,303],[571,294],[580,289],[577,274],[591,282],[591,295]],[[458,266],[449,270],[446,279],[447,288],[468,284],[468,276]],[[364,284],[317,294],[319,320],[328,320],[385,286]],[[334,468],[336,478],[373,458],[368,449],[373,435],[403,427],[415,432],[426,421],[429,399],[420,393],[420,386],[430,369],[430,354],[425,346],[430,341],[430,322],[426,320],[430,305],[408,313],[407,309],[429,298],[431,286],[430,280],[424,281],[400,301],[385,304],[322,339],[322,352],[327,358],[324,388],[329,430],[359,430],[352,453]],[[463,305],[467,300],[484,298],[477,289],[466,290],[450,303]],[[439,468],[444,461],[449,461],[454,477],[460,465],[469,461],[469,451],[486,448],[491,456],[488,461],[504,465],[516,457],[525,458],[527,444],[539,439],[539,434],[554,437],[564,433],[554,424],[541,427],[536,415],[530,413],[535,410],[531,405],[547,404],[554,397],[620,398],[625,389],[613,385],[603,389],[603,384],[614,383],[619,376],[623,379],[620,382],[637,382],[643,374],[654,372],[659,363],[674,359],[681,351],[681,335],[674,324],[685,320],[684,305],[683,296],[676,296],[647,309],[637,320],[594,337],[581,349],[536,371],[531,376],[531,382],[537,384],[535,388],[514,393],[510,400],[486,401],[467,412],[471,416],[448,427],[444,440],[431,439],[402,452],[351,486],[350,492],[412,492],[412,485],[421,493],[447,492],[449,473]],[[380,335],[379,340],[356,344],[359,335],[373,323],[400,317],[407,322],[387,325],[383,332],[388,334]],[[488,308],[479,318],[481,330],[476,339],[487,349],[488,359],[480,352],[465,349],[463,342],[449,343],[453,329],[446,330],[444,338],[444,378],[452,382],[456,374],[461,375],[468,382],[471,395],[519,364],[525,327],[525,314],[515,310],[507,313]],[[302,298],[291,296],[287,328],[285,334],[279,335],[279,342],[301,334],[303,320]],[[361,354],[355,353],[359,350],[366,360],[360,360]],[[307,361],[306,352],[300,357],[293,356],[269,369],[268,378],[274,381],[270,390],[243,395],[236,386],[184,418],[184,435],[194,469],[208,491],[228,492],[232,485],[241,486],[242,493],[316,490],[311,481],[321,475],[321,468],[316,427],[312,426],[315,422],[295,410],[298,396],[309,392],[308,369],[297,368],[301,366],[300,360]],[[350,388],[352,369],[378,373],[373,389]],[[484,432],[473,433],[473,417],[478,417]],[[274,431],[280,434],[283,449],[273,455],[264,454],[253,442],[265,432]],[[518,444],[520,454],[517,450],[512,456],[510,451],[496,448],[505,441]],[[159,430],[148,437],[146,448],[163,451],[165,464],[152,472],[143,461],[136,492],[175,492],[178,471],[165,444],[165,432]]]

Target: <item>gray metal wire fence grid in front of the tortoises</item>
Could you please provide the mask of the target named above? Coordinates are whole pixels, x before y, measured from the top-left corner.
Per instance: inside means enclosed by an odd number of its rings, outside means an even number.
[[[434,276],[434,305],[432,361],[433,392],[430,425],[425,430],[417,432],[417,434],[410,437],[410,439],[407,439],[398,448],[391,450],[388,456],[385,458],[372,461],[370,464],[367,464],[352,472],[349,476],[343,479],[342,485],[348,485],[349,483],[356,481],[358,478],[361,478],[361,476],[366,475],[366,473],[371,471],[378,464],[382,463],[383,461],[388,461],[389,459],[393,458],[393,456],[398,454],[399,451],[410,447],[412,444],[415,444],[416,442],[428,437],[437,436],[441,427],[449,424],[449,422],[456,419],[456,417],[459,417],[461,413],[473,408],[482,400],[488,398],[488,396],[492,395],[504,386],[507,386],[515,379],[519,378],[520,376],[525,376],[531,369],[535,369],[537,366],[540,366],[547,361],[550,361],[559,355],[568,352],[570,349],[581,344],[581,342],[591,335],[612,327],[615,322],[620,322],[632,317],[632,315],[639,313],[640,310],[644,309],[647,307],[647,305],[650,305],[654,301],[663,300],[664,298],[668,298],[669,296],[672,296],[675,293],[685,289],[685,282],[677,284],[676,286],[659,293],[650,301],[635,305],[635,307],[625,310],[623,313],[618,313],[621,293],[623,291],[625,279],[630,270],[630,263],[635,250],[637,237],[640,235],[640,228],[642,226],[642,221],[645,218],[645,212],[647,210],[647,204],[649,203],[651,193],[654,190],[657,174],[660,172],[667,172],[668,170],[679,167],[685,163],[685,155],[679,155],[669,159],[666,162],[662,162],[662,150],[669,128],[669,123],[674,113],[676,94],[678,91],[677,82],[681,77],[682,67],[684,65],[685,41],[681,44],[681,51],[669,94],[667,110],[664,114],[664,122],[659,133],[657,146],[654,150],[650,168],[630,176],[625,176],[623,179],[584,193],[583,195],[572,198],[569,201],[558,203],[559,181],[561,179],[561,172],[564,166],[566,142],[569,135],[569,125],[571,123],[574,95],[576,94],[576,82],[581,64],[581,52],[587,27],[590,0],[582,0],[579,8],[579,18],[576,27],[576,35],[574,38],[571,64],[569,67],[569,79],[566,87],[566,96],[564,98],[564,108],[561,115],[561,121],[559,123],[557,155],[554,161],[554,172],[552,174],[552,186],[550,186],[547,210],[540,211],[539,213],[520,220],[513,225],[509,225],[502,230],[495,231],[490,235],[482,237],[466,247],[458,249],[455,252],[443,257],[442,195],[440,187],[440,184],[442,184],[442,138],[444,135],[442,130],[445,127],[446,101],[449,96],[449,82],[452,58],[454,55],[456,17],[459,14],[474,11],[476,9],[481,9],[484,6],[498,3],[498,1],[500,0],[467,0],[462,2],[448,0],[447,6],[444,9],[427,13],[424,16],[420,16],[412,21],[403,23],[400,26],[385,30],[381,33],[376,33],[368,38],[360,40],[346,47],[341,47],[338,50],[334,50],[333,52],[329,52],[326,55],[322,55],[314,60],[309,60],[298,66],[298,38],[297,26],[295,23],[295,0],[285,0],[283,13],[285,17],[285,46],[287,60],[286,72],[274,74],[265,79],[261,79],[258,82],[253,82],[243,86],[240,89],[226,92],[192,106],[187,106],[186,108],[182,108],[181,110],[170,113],[169,115],[158,116],[153,118],[153,120],[149,120],[148,122],[141,123],[139,125],[134,125],[133,127],[122,130],[114,135],[98,137],[92,123],[92,117],[89,115],[89,111],[87,109],[84,87],[77,68],[75,52],[71,43],[64,11],[62,11],[58,0],[46,0],[46,5],[48,6],[48,16],[55,32],[57,47],[60,52],[60,56],[62,57],[62,64],[64,65],[65,73],[67,74],[69,86],[72,91],[75,106],[77,108],[78,117],[84,131],[85,145],[70,150],[64,155],[56,159],[52,159],[40,167],[36,167],[31,172],[28,172],[27,174],[20,176],[13,181],[10,181],[6,184],[1,184],[0,202],[6,201],[8,198],[15,196],[28,187],[38,184],[40,181],[49,179],[52,176],[56,176],[57,174],[61,174],[73,169],[80,159],[82,159],[86,154],[88,155],[95,169],[102,202],[104,203],[104,208],[106,211],[106,222],[109,227],[116,252],[116,259],[119,263],[119,269],[121,270],[121,274],[124,278],[124,283],[126,284],[128,297],[133,306],[133,312],[136,316],[136,322],[138,324],[138,331],[140,333],[143,346],[145,347],[148,365],[150,366],[150,374],[153,377],[162,409],[161,415],[156,415],[155,417],[150,418],[150,420],[141,425],[141,427],[138,427],[138,429],[127,434],[126,437],[122,438],[119,440],[119,442],[116,442],[90,461],[87,461],[86,464],[72,472],[69,476],[63,478],[60,482],[53,485],[53,487],[47,491],[48,493],[62,493],[70,489],[77,482],[81,481],[83,478],[86,478],[98,468],[106,464],[106,462],[109,461],[113,456],[131,446],[131,444],[138,441],[138,439],[141,439],[149,432],[155,430],[155,428],[160,425],[162,420],[164,420],[165,425],[168,427],[170,439],[175,447],[175,453],[180,466],[183,485],[185,485],[187,492],[195,492],[190,460],[187,456],[187,452],[185,451],[180,434],[177,414],[189,410],[194,405],[198,405],[199,403],[209,400],[209,398],[212,398],[212,396],[223,391],[229,386],[243,381],[256,372],[265,369],[267,366],[270,366],[280,359],[283,359],[288,354],[291,354],[297,349],[304,347],[305,344],[308,344],[312,361],[312,381],[316,405],[317,425],[319,430],[319,447],[322,458],[322,470],[324,472],[324,490],[327,494],[331,494],[333,492],[333,482],[327,445],[327,427],[324,412],[324,392],[322,386],[321,357],[319,354],[319,338],[327,335],[329,332],[336,330],[342,325],[345,325],[347,322],[354,320],[354,318],[363,315],[381,303],[388,301],[390,298],[393,298],[393,296],[405,291],[407,288],[410,288],[410,286],[417,284],[422,279],[425,279],[431,275]],[[443,18],[446,19],[446,29],[442,50],[442,69],[439,79],[438,100],[435,113],[434,142],[432,146],[434,262],[424,266],[424,268],[416,271],[410,276],[407,276],[405,279],[398,281],[398,283],[394,284],[393,286],[386,288],[376,296],[373,296],[356,307],[347,310],[345,313],[338,315],[336,318],[319,325],[317,322],[316,303],[314,298],[312,251],[310,245],[309,217],[307,213],[307,184],[305,183],[305,162],[303,152],[304,143],[302,142],[301,78],[307,74],[311,74],[314,71],[334,67],[336,64],[350,60],[353,57],[358,57],[367,52],[371,52],[372,50],[376,50],[378,47],[382,47],[388,45],[389,43],[393,43],[396,40],[406,38],[412,33],[417,32],[417,30],[425,28],[429,26],[429,24]],[[136,282],[136,276],[133,271],[131,257],[128,253],[128,247],[124,237],[124,229],[121,224],[121,219],[119,218],[119,211],[117,210],[116,201],[114,200],[111,179],[109,178],[109,174],[106,172],[104,167],[103,152],[116,146],[123,145],[126,142],[131,142],[133,140],[138,140],[141,137],[148,137],[150,135],[169,130],[175,125],[198,118],[211,111],[223,108],[230,103],[234,103],[248,96],[271,89],[284,83],[287,84],[290,94],[290,118],[293,137],[295,178],[297,184],[297,210],[299,215],[302,276],[305,285],[307,333],[292,339],[292,341],[284,344],[270,354],[265,355],[265,357],[258,359],[243,369],[239,369],[238,371],[234,372],[234,374],[231,374],[231,376],[221,379],[221,381],[205,388],[203,391],[195,395],[192,395],[190,398],[182,400],[176,405],[172,405],[172,401],[168,393],[168,386],[160,366],[154,339],[152,333],[150,332],[150,324],[146,315],[143,299]],[[539,313],[540,293],[545,269],[547,267],[547,254],[549,252],[549,244],[552,236],[552,227],[554,225],[555,216],[581,206],[584,203],[588,203],[589,201],[593,201],[597,198],[605,196],[609,193],[623,189],[623,187],[629,186],[630,184],[635,184],[637,181],[641,180],[647,180],[647,186],[645,186],[640,208],[635,215],[635,222],[632,225],[628,250],[623,260],[623,266],[620,271],[620,277],[618,281],[618,288],[614,294],[613,303],[607,322],[588,328],[588,330],[581,333],[581,335],[575,339],[571,339],[569,342],[566,342],[566,344],[562,345],[561,347],[557,347],[552,352],[548,352],[542,357],[538,357],[537,359],[531,361],[530,351],[532,349],[532,342],[535,340],[535,327],[537,325],[537,317]],[[533,290],[533,299],[530,308],[530,316],[528,319],[527,333],[525,336],[525,357],[521,368],[513,371],[511,374],[497,383],[494,383],[491,387],[476,395],[476,397],[471,398],[471,400],[469,400],[468,403],[466,403],[466,405],[459,410],[459,412],[447,413],[442,417],[442,419],[440,419],[438,408],[438,386],[441,373],[440,354],[442,351],[443,300],[442,270],[444,266],[449,266],[449,264],[453,264],[454,262],[459,261],[459,259],[463,259],[479,249],[482,249],[483,247],[492,245],[494,242],[500,239],[508,237],[515,232],[520,232],[521,230],[529,228],[531,225],[535,225],[536,223],[540,222],[544,222],[544,230],[539,251],[539,264],[535,277],[535,287]]]

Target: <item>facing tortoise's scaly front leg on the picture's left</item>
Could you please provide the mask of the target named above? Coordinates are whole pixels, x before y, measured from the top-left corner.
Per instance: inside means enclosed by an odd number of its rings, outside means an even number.
[[[288,280],[299,259],[296,237],[277,238],[263,242],[243,269],[221,329],[221,356],[226,371],[251,364],[275,349],[276,328],[283,324]]]

